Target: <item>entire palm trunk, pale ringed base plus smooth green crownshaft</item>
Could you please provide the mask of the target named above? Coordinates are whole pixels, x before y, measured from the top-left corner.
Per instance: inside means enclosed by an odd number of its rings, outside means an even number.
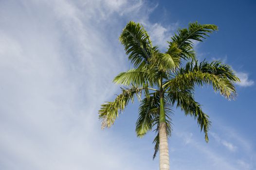
[[[160,170],[170,170],[169,151],[168,151],[166,121],[165,121],[165,102],[164,95],[160,92],[160,118],[159,118],[159,159]]]

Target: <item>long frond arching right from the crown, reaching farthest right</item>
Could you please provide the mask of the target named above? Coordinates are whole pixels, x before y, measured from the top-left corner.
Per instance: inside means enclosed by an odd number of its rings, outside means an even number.
[[[227,99],[234,99],[237,95],[234,82],[238,77],[227,65],[220,62],[188,62],[185,68],[179,69],[176,77],[165,83],[165,89],[193,88],[194,85],[212,85],[216,92]]]

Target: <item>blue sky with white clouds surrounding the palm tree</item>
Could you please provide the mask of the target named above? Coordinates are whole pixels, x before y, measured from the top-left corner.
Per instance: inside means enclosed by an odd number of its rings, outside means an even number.
[[[97,111],[130,68],[118,36],[141,22],[165,51],[177,28],[211,23],[198,58],[221,60],[241,79],[236,101],[211,87],[195,97],[212,121],[209,143],[180,110],[169,139],[171,170],[256,169],[256,3],[240,1],[1,0],[0,169],[156,170],[154,133],[135,134],[138,102],[102,131]]]

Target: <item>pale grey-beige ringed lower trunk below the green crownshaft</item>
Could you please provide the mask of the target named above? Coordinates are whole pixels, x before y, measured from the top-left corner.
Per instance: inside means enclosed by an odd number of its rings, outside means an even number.
[[[159,124],[159,153],[160,170],[170,170],[168,141],[165,122]]]

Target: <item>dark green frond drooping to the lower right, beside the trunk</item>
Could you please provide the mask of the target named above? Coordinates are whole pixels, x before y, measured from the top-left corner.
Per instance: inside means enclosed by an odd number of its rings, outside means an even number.
[[[193,91],[189,89],[172,90],[167,92],[167,98],[172,105],[176,103],[177,107],[185,112],[185,115],[191,115],[197,119],[201,131],[204,132],[205,141],[208,142],[208,130],[211,122],[208,119],[209,117],[202,112],[200,104],[194,100]]]

